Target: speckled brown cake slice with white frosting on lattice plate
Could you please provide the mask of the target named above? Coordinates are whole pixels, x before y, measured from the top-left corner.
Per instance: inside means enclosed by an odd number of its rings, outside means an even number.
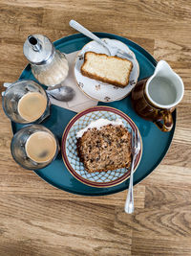
[[[98,119],[76,134],[80,161],[89,173],[131,164],[131,134],[121,120]]]

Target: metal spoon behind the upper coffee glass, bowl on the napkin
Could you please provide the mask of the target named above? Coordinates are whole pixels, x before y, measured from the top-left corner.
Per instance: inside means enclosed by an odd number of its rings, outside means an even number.
[[[8,88],[11,85],[11,82],[4,82],[3,86]],[[60,88],[55,88],[53,90],[46,90],[49,97],[60,101],[60,102],[69,102],[74,98],[74,89],[70,86],[62,86]],[[1,93],[4,96],[4,91]]]

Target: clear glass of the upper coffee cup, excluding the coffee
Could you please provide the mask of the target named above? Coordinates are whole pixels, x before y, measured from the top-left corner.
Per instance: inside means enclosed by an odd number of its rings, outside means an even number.
[[[41,114],[41,116],[32,121],[25,120],[18,112],[18,103],[20,99],[29,92],[38,92],[44,96],[44,99],[46,99],[46,109]],[[23,80],[11,83],[3,95],[2,103],[4,112],[11,119],[11,121],[15,123],[32,124],[35,122],[36,124],[39,124],[48,116],[50,116],[51,103],[49,97],[43,87],[35,81]]]

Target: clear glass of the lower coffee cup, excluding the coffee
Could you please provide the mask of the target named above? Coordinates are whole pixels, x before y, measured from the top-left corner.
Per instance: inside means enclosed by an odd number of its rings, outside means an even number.
[[[52,157],[44,162],[37,162],[33,160],[29,156],[29,152],[27,152],[27,143],[29,142],[29,138],[32,136],[32,134],[43,131],[46,132],[48,137],[52,137],[53,139],[53,147],[55,147],[55,151],[52,155]],[[39,142],[40,143],[40,142]],[[36,150],[39,147],[39,143],[36,143],[35,147]],[[29,144],[29,143],[28,143]],[[29,125],[24,128],[21,128],[19,131],[17,131],[14,136],[12,137],[11,140],[11,155],[16,163],[18,163],[20,166],[22,166],[25,169],[29,170],[36,170],[36,169],[42,169],[48,165],[50,165],[53,160],[56,158],[58,151],[59,151],[59,144],[58,140],[53,134],[53,132],[45,128],[41,125]],[[33,149],[35,150],[35,149]]]

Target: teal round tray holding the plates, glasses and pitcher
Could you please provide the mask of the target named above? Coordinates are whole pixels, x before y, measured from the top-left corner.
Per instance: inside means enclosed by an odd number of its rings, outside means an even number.
[[[154,73],[157,61],[135,42],[118,35],[106,33],[96,33],[96,35],[99,37],[108,37],[111,39],[120,40],[128,45],[132,51],[134,51],[140,67],[140,74],[138,80],[149,77]],[[61,52],[70,54],[74,51],[80,50],[89,41],[90,39],[86,36],[76,34],[69,35],[55,41],[54,46]],[[22,72],[20,79],[35,81],[34,77],[32,76],[32,70],[30,65],[28,65]],[[125,99],[114,103],[99,103],[98,105],[109,105],[116,107],[117,109],[126,113],[130,118],[132,118],[138,126],[142,137],[143,151],[140,163],[138,165],[138,170],[134,175],[135,185],[155,170],[155,168],[159,165],[159,162],[168,151],[176,126],[176,111],[174,111],[173,113],[174,128],[170,132],[165,133],[160,131],[159,128],[157,128],[153,123],[144,121],[143,119],[138,117],[138,115],[132,108],[131,96],[128,96]],[[74,111],[52,105],[51,116],[46,121],[44,121],[42,125],[50,128],[61,142],[62,133],[75,114],[76,113]],[[22,125],[16,123],[11,123],[11,126],[13,133],[23,127]],[[26,170],[26,175],[27,172],[30,171]],[[95,188],[87,186],[79,182],[77,179],[74,178],[73,175],[70,174],[62,161],[61,153],[58,154],[57,158],[50,166],[35,171],[35,173],[36,175],[39,175],[44,180],[59,189],[84,196],[103,196],[114,194],[127,189],[129,186],[129,179],[117,186],[110,188]]]

